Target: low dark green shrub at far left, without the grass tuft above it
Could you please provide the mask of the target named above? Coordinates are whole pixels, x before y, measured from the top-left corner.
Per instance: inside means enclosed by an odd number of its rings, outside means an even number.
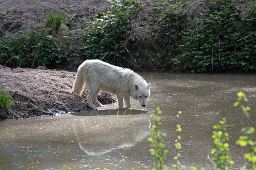
[[[46,29],[0,39],[1,56],[10,67],[55,67],[71,59],[64,53],[67,45],[63,42],[56,44],[56,38],[46,34]]]

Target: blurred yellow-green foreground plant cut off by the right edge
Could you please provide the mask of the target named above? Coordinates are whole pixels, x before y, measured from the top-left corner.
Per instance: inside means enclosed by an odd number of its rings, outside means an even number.
[[[245,102],[247,102],[246,95],[243,92],[237,93],[238,99],[234,103],[234,107],[236,108],[242,108],[243,115],[246,118],[250,117],[250,107],[245,106]],[[250,137],[250,135],[253,135],[255,133],[255,129],[253,126],[251,127],[245,127],[241,129],[243,135],[239,137],[236,144],[240,145],[241,147],[250,147],[250,152],[244,154],[245,159],[247,159],[251,163],[251,167],[253,169],[256,169],[256,147],[255,143],[256,141],[253,141],[253,139]]]

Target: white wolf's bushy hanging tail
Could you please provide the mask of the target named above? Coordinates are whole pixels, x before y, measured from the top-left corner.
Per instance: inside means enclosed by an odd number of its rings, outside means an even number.
[[[84,76],[82,76],[82,70],[78,70],[76,74],[75,82],[73,83],[72,92],[77,96],[81,96],[82,91],[84,91]]]

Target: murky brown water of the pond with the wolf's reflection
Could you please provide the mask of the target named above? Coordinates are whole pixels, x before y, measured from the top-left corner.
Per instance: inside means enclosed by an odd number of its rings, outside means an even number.
[[[146,108],[131,100],[131,109],[118,110],[114,103],[99,111],[0,121],[0,169],[152,169],[147,138],[153,122],[149,115],[157,106],[162,110],[159,131],[167,134],[168,169],[176,154],[177,123],[182,129],[180,163],[212,168],[212,126],[224,116],[232,169],[247,166],[247,150],[235,143],[242,127],[255,126],[255,74],[143,75],[152,84]],[[249,99],[250,120],[232,106],[238,91]]]

